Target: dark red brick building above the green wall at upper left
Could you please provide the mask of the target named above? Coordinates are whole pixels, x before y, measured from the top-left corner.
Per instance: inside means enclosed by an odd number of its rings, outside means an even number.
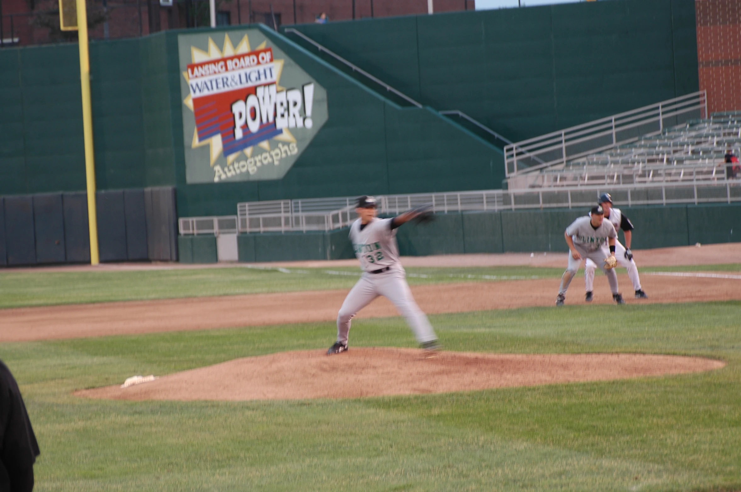
[[[162,1],[162,4],[161,4]],[[150,32],[209,24],[208,0],[87,0],[90,39],[132,38]],[[435,12],[473,10],[475,0],[433,0]],[[270,27],[427,13],[428,0],[216,0],[219,25],[263,23]],[[59,30],[59,0],[1,0],[0,22],[6,45],[72,41]]]

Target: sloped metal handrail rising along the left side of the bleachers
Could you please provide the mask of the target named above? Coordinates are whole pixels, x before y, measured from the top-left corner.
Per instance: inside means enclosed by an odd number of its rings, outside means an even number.
[[[656,135],[663,131],[663,123],[666,118],[673,118],[697,110],[700,110],[701,116],[707,115],[708,109],[705,91],[694,92],[680,96],[679,98],[669,99],[657,104],[631,109],[631,111],[576,125],[576,127],[569,127],[540,135],[539,137],[516,142],[505,146],[505,175],[509,178],[522,172],[534,172],[549,166],[566,164],[570,160],[594,152],[628,144],[648,135]],[[618,138],[617,136],[620,132],[656,122],[658,122],[658,131],[656,132],[642,132],[640,136],[631,136],[629,138]],[[605,138],[608,140],[608,144],[604,144]],[[590,141],[596,141],[595,145],[591,148],[585,150],[579,149],[579,152],[574,153],[570,153],[568,150],[569,146],[588,144]],[[548,154],[551,155],[551,158],[545,157],[545,162],[537,159],[539,164],[527,166],[525,169],[518,169],[518,164],[522,164],[523,159],[527,160],[534,156],[546,156]],[[518,159],[520,160],[519,163]]]

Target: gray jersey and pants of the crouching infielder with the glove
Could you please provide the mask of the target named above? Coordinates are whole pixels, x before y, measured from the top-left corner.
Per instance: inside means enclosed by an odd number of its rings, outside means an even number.
[[[602,223],[594,229],[591,224],[591,217],[586,215],[585,217],[579,217],[571,223],[571,226],[566,228],[566,234],[571,236],[574,240],[574,248],[579,255],[582,255],[582,259],[590,259],[599,266],[602,266],[602,271],[607,275],[608,283],[610,283],[610,290],[613,294],[617,294],[617,274],[615,269],[605,269],[606,257],[610,256],[610,250],[608,249],[608,238],[617,238],[617,232],[615,232],[615,226],[609,220],[602,220]],[[568,289],[568,284],[576,275],[579,270],[579,265],[582,260],[574,260],[571,253],[568,255],[568,266],[566,271],[561,277],[561,286],[559,287],[558,293],[565,295]]]

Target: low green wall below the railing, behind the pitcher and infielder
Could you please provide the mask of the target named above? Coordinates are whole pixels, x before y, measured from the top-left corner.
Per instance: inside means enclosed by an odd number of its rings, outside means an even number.
[[[741,242],[741,204],[621,208],[635,226],[633,249]],[[397,232],[402,256],[466,253],[568,252],[563,233],[586,210],[554,209],[438,214]],[[625,238],[619,232],[620,240]],[[180,236],[181,261],[216,262],[216,238]],[[348,229],[322,233],[239,236],[239,261],[353,258]]]

